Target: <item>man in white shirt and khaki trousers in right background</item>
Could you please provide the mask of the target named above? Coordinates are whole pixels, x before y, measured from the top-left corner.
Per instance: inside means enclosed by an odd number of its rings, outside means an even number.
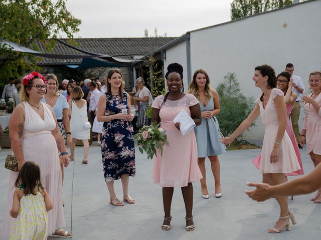
[[[302,92],[304,90],[304,85],[301,77],[293,75],[294,71],[294,66],[292,63],[287,63],[285,66],[285,71],[290,73],[290,75],[293,78],[293,86],[292,86],[292,92],[297,94],[296,100],[294,107],[291,111],[290,117],[291,117],[291,122],[292,122],[292,128],[294,131],[294,135],[297,141],[297,145],[299,148],[303,148],[303,146],[300,144],[300,133],[299,133],[299,115],[300,115],[300,110],[301,110],[301,105],[300,105],[300,100],[302,97]]]

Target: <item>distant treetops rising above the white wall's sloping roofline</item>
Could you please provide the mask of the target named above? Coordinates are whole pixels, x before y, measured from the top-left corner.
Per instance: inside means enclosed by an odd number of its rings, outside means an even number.
[[[293,4],[293,0],[233,0],[231,19],[258,14]]]

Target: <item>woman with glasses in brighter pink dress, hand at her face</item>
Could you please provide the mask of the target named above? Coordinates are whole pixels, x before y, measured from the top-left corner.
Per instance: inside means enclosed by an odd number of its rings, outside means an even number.
[[[277,75],[277,88],[281,89],[284,92],[285,95],[285,105],[286,105],[286,115],[289,116],[291,114],[291,111],[293,109],[293,106],[295,104],[296,100],[296,93],[292,92],[292,84],[293,84],[293,78],[287,71],[282,71],[280,74]],[[303,172],[303,165],[301,160],[301,154],[299,147],[296,142],[296,138],[292,129],[292,123],[290,122],[289,117],[286,117],[286,128],[285,128],[287,134],[289,135],[297,160],[300,164],[301,169],[291,172],[291,173],[285,173],[286,176],[296,176],[304,174]]]

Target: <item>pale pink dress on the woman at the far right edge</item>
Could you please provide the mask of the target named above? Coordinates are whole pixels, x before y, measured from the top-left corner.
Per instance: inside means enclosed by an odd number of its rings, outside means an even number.
[[[309,97],[313,93],[309,94]],[[321,94],[314,99],[319,105],[321,105]],[[304,104],[305,118],[302,129],[306,129],[306,152],[321,155],[321,110],[316,112],[312,104]]]

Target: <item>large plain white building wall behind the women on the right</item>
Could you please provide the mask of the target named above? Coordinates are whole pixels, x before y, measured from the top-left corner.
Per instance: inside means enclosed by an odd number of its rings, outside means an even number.
[[[251,79],[254,67],[269,64],[278,74],[284,70],[286,63],[291,62],[294,64],[294,74],[301,76],[307,87],[309,72],[321,68],[320,9],[321,0],[305,2],[192,31],[192,75],[195,69],[205,68],[212,87],[216,88],[227,72],[235,72],[243,93],[256,98],[260,89],[254,86]],[[167,55],[167,61],[175,59]],[[301,111],[300,127],[303,116],[304,112]],[[258,119],[256,123],[256,127],[245,132],[245,137],[264,135],[261,120]]]

